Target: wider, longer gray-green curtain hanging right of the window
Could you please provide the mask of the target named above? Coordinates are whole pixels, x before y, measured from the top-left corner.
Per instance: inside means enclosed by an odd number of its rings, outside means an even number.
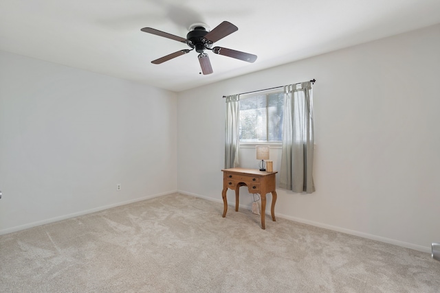
[[[315,191],[314,119],[311,82],[284,87],[283,152],[280,187],[294,192]]]

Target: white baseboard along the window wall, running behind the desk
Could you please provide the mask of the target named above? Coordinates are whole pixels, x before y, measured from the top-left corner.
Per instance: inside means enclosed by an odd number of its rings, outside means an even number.
[[[195,196],[197,198],[203,198],[205,200],[210,200],[212,202],[221,202],[221,203],[223,203],[222,199],[209,198],[207,196],[201,196],[199,194],[191,194],[189,192],[181,191],[181,190],[178,190],[177,192],[179,192],[179,194],[186,194],[188,196]],[[235,202],[234,202],[234,204],[235,204]],[[240,204],[239,207],[241,207],[242,209],[251,209],[251,207],[248,207],[248,206],[245,206],[245,205],[242,205],[242,204]],[[266,211],[266,213],[267,213],[267,211]],[[267,214],[269,214],[269,213],[267,213]],[[292,217],[291,215],[284,215],[284,214],[281,214],[281,213],[276,213],[276,217],[277,218],[279,217],[279,218],[291,220],[291,221],[294,221],[294,222],[299,222],[299,223],[307,224],[307,225],[311,225],[311,226],[316,226],[316,227],[319,227],[319,228],[325,228],[325,229],[328,229],[328,230],[331,230],[331,231],[337,231],[337,232],[341,232],[341,233],[345,233],[345,234],[349,234],[349,235],[354,235],[354,236],[358,236],[358,237],[362,237],[362,238],[366,238],[366,239],[371,239],[371,240],[376,240],[376,241],[379,241],[379,242],[393,244],[393,245],[401,246],[401,247],[404,247],[404,248],[410,248],[410,249],[413,249],[413,250],[421,251],[423,253],[431,253],[431,247],[420,246],[420,245],[411,244],[411,243],[408,243],[408,242],[401,242],[401,241],[395,240],[395,239],[390,239],[390,238],[386,238],[386,237],[382,237],[382,236],[376,236],[376,235],[372,235],[372,234],[369,234],[369,233],[363,233],[363,232],[359,232],[359,231],[353,231],[353,230],[349,230],[347,228],[341,228],[341,227],[338,227],[338,226],[332,226],[332,225],[329,225],[329,224],[323,224],[323,223],[320,223],[320,222],[314,222],[314,221],[305,220],[305,219],[302,219],[302,218],[296,218],[296,217]]]

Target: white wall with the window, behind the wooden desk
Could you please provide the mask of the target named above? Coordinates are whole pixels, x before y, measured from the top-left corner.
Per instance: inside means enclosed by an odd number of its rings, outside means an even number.
[[[316,78],[316,192],[277,189],[276,214],[430,251],[440,240],[439,52],[435,25],[179,93],[177,189],[221,201],[223,95]],[[280,151],[271,158],[278,169]],[[253,149],[241,159],[256,167]]]

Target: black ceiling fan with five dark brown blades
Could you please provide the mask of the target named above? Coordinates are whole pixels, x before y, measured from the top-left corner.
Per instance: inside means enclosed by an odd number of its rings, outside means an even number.
[[[228,21],[223,21],[222,23],[217,25],[217,27],[214,27],[214,29],[211,30],[210,32],[206,30],[206,27],[208,26],[204,25],[203,23],[196,23],[194,25],[191,25],[190,32],[188,32],[186,38],[181,38],[180,36],[175,36],[173,34],[168,34],[167,32],[155,30],[151,27],[144,27],[143,29],[141,29],[142,32],[148,32],[149,34],[155,34],[156,36],[163,36],[164,38],[177,40],[178,42],[186,43],[186,45],[188,45],[191,48],[191,49],[183,49],[174,52],[162,58],[153,60],[151,61],[151,63],[161,64],[165,61],[187,54],[194,49],[197,53],[199,53],[199,63],[200,63],[201,71],[205,75],[212,73],[211,62],[209,60],[208,54],[204,52],[205,50],[210,50],[214,54],[228,56],[246,62],[251,62],[251,63],[255,62],[256,55],[253,54],[236,51],[228,48],[223,48],[223,47],[212,48],[213,43],[217,42],[217,40],[220,40],[221,38],[224,38],[225,36],[232,34],[233,32],[236,32],[237,30],[239,30],[238,27],[236,27],[232,23],[229,23]]]

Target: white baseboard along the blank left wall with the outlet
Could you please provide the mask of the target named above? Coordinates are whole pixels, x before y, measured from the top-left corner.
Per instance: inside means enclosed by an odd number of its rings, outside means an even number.
[[[13,232],[17,232],[17,231],[21,231],[21,230],[25,230],[28,228],[33,228],[36,226],[41,226],[44,224],[50,224],[53,222],[58,222],[61,220],[66,220],[69,218],[75,218],[78,217],[80,215],[87,215],[88,213],[96,213],[97,211],[103,211],[104,209],[111,209],[113,207],[120,207],[123,206],[125,204],[131,204],[133,202],[140,202],[142,200],[148,200],[151,198],[157,198],[159,196],[166,196],[167,194],[175,194],[177,192],[177,190],[174,191],[167,191],[164,192],[162,194],[153,194],[151,196],[144,196],[142,198],[135,198],[134,200],[126,200],[124,202],[117,202],[115,204],[108,204],[102,207],[96,207],[94,209],[87,209],[85,211],[79,211],[77,213],[69,213],[68,215],[60,215],[58,217],[54,217],[54,218],[50,218],[50,219],[45,219],[45,220],[41,220],[41,221],[37,221],[37,222],[32,222],[32,223],[28,223],[28,224],[24,224],[24,225],[19,225],[19,226],[14,226],[12,228],[5,228],[3,230],[0,230],[0,235],[4,235],[4,234],[8,234],[8,233],[13,233]]]

